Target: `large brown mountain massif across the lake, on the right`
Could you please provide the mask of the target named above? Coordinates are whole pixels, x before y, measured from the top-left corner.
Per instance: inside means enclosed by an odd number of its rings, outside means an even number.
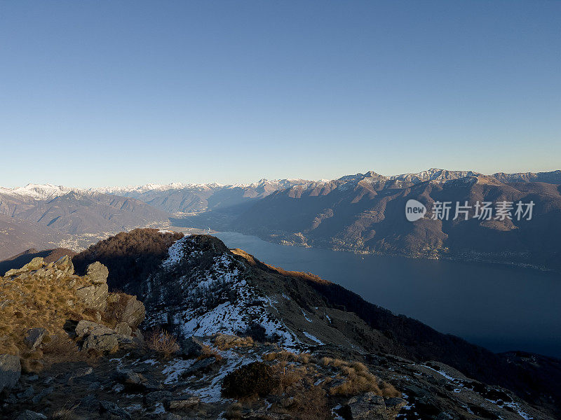
[[[447,176],[450,178],[450,176]],[[425,258],[482,259],[561,269],[561,194],[556,184],[503,183],[492,176],[447,181],[386,179],[374,173],[295,186],[256,202],[234,228],[274,241]],[[414,199],[428,209],[405,219]],[[433,203],[533,201],[531,221],[431,218]]]

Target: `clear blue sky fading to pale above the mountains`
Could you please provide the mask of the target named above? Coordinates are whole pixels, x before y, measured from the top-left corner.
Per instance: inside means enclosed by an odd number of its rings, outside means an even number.
[[[0,185],[561,169],[560,1],[1,1]]]

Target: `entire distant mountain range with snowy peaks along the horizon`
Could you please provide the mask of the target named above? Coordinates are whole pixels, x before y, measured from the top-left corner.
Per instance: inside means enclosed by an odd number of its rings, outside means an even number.
[[[283,244],[560,270],[556,239],[561,230],[560,186],[561,171],[483,175],[445,169],[395,176],[367,172],[331,181],[262,179],[234,185],[78,189],[32,184],[0,188],[0,215],[38,223],[47,228],[45,238],[100,235],[165,225],[169,219],[177,226],[235,230]],[[409,223],[404,209],[411,199],[427,209],[438,201],[471,206],[482,201],[532,201],[535,205],[532,221],[473,217],[441,221],[427,214]],[[0,229],[7,223],[2,220]],[[31,246],[44,244],[28,240],[19,248],[4,246],[9,251],[0,257]]]

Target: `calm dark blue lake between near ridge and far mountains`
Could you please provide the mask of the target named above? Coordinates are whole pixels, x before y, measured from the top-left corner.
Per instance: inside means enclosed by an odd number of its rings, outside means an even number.
[[[561,276],[471,262],[413,260],[215,236],[277,267],[318,274],[396,314],[492,351],[561,357]]]

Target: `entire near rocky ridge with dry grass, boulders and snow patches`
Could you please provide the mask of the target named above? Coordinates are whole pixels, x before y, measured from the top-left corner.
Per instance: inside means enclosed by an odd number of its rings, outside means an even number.
[[[0,277],[1,419],[555,419],[560,365],[206,235],[134,230]]]

